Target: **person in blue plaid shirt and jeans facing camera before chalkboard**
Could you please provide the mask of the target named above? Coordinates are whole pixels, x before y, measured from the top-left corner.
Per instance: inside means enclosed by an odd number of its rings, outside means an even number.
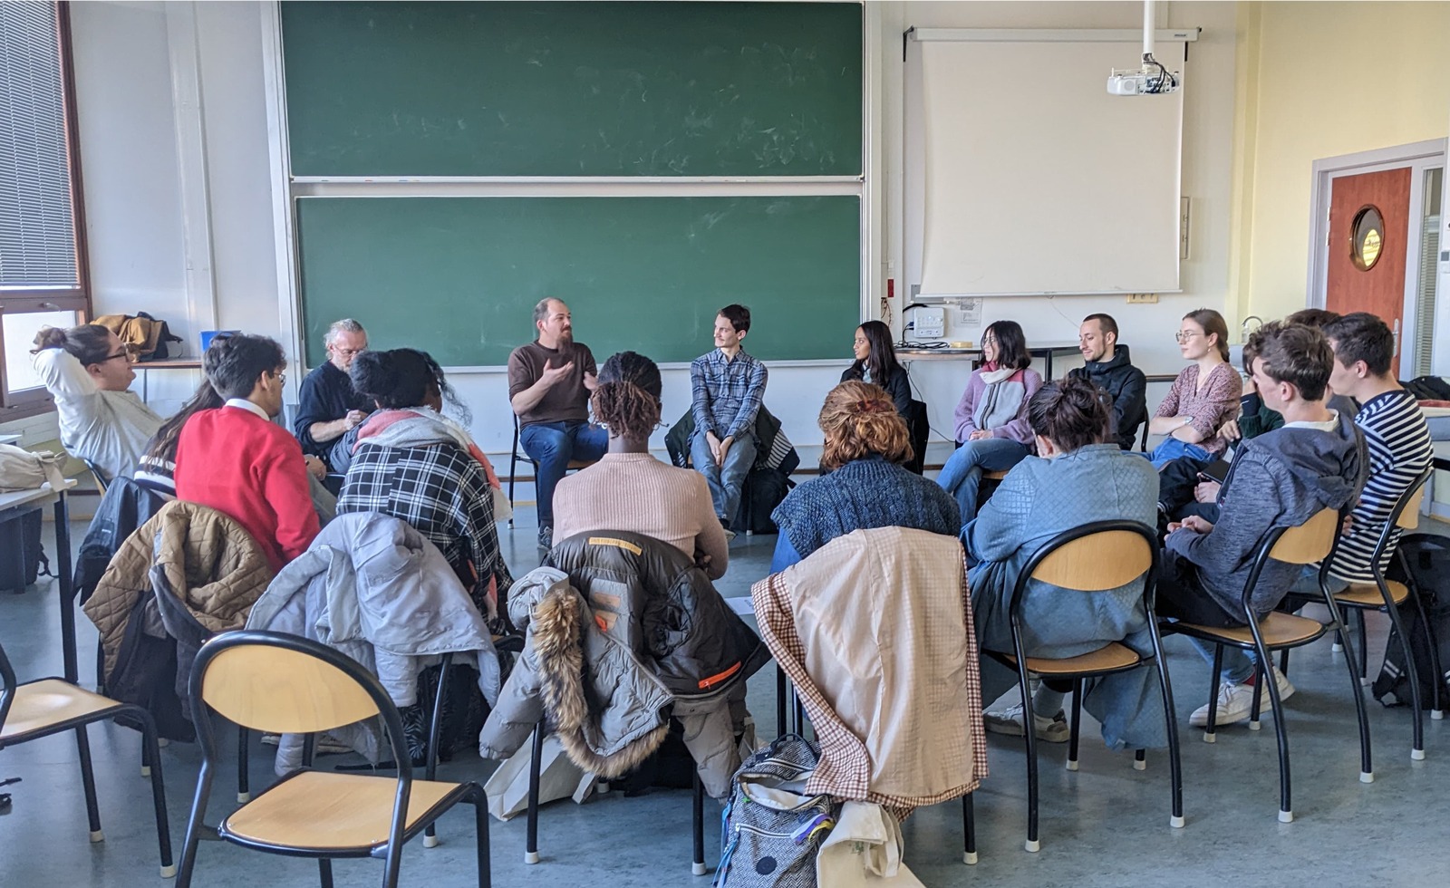
[[[755,414],[766,396],[766,366],[741,348],[748,332],[750,309],[726,305],[715,316],[716,348],[690,363],[690,461],[705,476],[726,533],[745,474],[755,464]]]

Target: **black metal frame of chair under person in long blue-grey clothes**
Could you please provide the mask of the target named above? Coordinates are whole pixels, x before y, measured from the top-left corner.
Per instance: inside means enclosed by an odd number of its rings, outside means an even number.
[[[1069,531],[1057,534],[1047,543],[1044,543],[1032,557],[1028,559],[1027,564],[1022,567],[1021,573],[1016,576],[1016,582],[1012,588],[1012,602],[1011,602],[1011,624],[1012,624],[1012,647],[1014,653],[983,650],[983,653],[996,662],[1015,669],[1018,675],[1018,686],[1022,692],[1022,723],[1024,723],[1024,740],[1027,741],[1027,850],[1037,852],[1041,849],[1041,842],[1038,840],[1038,779],[1037,779],[1037,736],[1028,721],[1032,717],[1032,698],[1030,691],[1030,673],[1027,667],[1027,650],[1022,644],[1022,601],[1027,598],[1028,583],[1032,580],[1032,573],[1037,570],[1050,554],[1061,548],[1069,543],[1082,540],[1083,537],[1090,537],[1102,533],[1112,531],[1127,531],[1143,537],[1148,547],[1150,564],[1144,575],[1143,586],[1143,604],[1147,611],[1148,634],[1153,638],[1153,666],[1157,667],[1159,673],[1159,689],[1163,698],[1163,712],[1167,725],[1167,740],[1169,740],[1169,776],[1172,784],[1172,810],[1173,815],[1169,821],[1173,827],[1183,826],[1183,772],[1182,760],[1179,757],[1179,736],[1177,736],[1177,718],[1173,708],[1173,683],[1169,679],[1167,660],[1163,656],[1163,638],[1159,634],[1157,617],[1154,612],[1154,592],[1157,586],[1159,576],[1159,543],[1157,535],[1153,528],[1138,524],[1137,521],[1093,521],[1076,527]],[[1111,675],[1115,672],[1127,672],[1130,669],[1147,667],[1150,666],[1148,657],[1138,656],[1137,662],[1114,667],[1114,669],[1096,669],[1092,672],[1080,673],[1054,673],[1054,679],[1070,678],[1073,681],[1073,717],[1072,717],[1072,743],[1069,747],[1067,769],[1077,770],[1077,737],[1079,728],[1082,725],[1082,695],[1083,695],[1083,679],[1096,678],[1102,675]],[[1143,769],[1146,762],[1144,750],[1137,750],[1134,759],[1134,768]],[[974,829],[972,827],[972,807],[970,797],[963,797],[963,817],[967,826],[967,842],[966,858],[969,863],[974,863],[976,849],[972,846],[974,837]]]

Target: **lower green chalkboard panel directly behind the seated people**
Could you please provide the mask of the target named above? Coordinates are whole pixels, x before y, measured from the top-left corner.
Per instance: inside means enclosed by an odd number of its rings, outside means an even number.
[[[599,360],[689,361],[732,302],[754,315],[751,354],[845,358],[860,212],[856,196],[300,197],[307,363],[325,360],[328,324],[357,318],[374,348],[503,364],[544,296],[570,305]]]

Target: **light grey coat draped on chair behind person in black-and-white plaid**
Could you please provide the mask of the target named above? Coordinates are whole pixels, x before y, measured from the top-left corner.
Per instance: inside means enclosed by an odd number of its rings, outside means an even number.
[[[341,650],[399,707],[418,702],[418,675],[445,653],[477,667],[484,699],[499,698],[499,657],[468,592],[436,546],[381,512],[338,515],[322,528],[252,605],[246,628]],[[376,749],[376,737],[332,733],[367,755]],[[300,744],[278,747],[278,772],[297,755]]]

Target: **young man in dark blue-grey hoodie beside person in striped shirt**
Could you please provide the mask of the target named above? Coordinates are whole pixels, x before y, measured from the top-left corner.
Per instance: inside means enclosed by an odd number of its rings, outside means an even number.
[[[1244,441],[1218,496],[1218,521],[1193,515],[1169,524],[1164,538],[1159,614],[1217,627],[1246,625],[1240,599],[1259,544],[1272,528],[1296,527],[1321,509],[1340,509],[1359,496],[1367,464],[1354,418],[1327,406],[1334,351],[1324,334],[1304,325],[1269,324],[1260,331],[1253,377],[1264,403],[1283,415],[1283,427]],[[1263,620],[1289,592],[1299,566],[1270,560],[1250,602]],[[1214,646],[1195,640],[1212,662]],[[1273,667],[1279,696],[1293,694]],[[1217,724],[1248,717],[1254,660],[1225,649]],[[1264,701],[1267,694],[1259,691]],[[1264,702],[1263,705],[1267,705]],[[1208,723],[1208,707],[1189,724]]]

